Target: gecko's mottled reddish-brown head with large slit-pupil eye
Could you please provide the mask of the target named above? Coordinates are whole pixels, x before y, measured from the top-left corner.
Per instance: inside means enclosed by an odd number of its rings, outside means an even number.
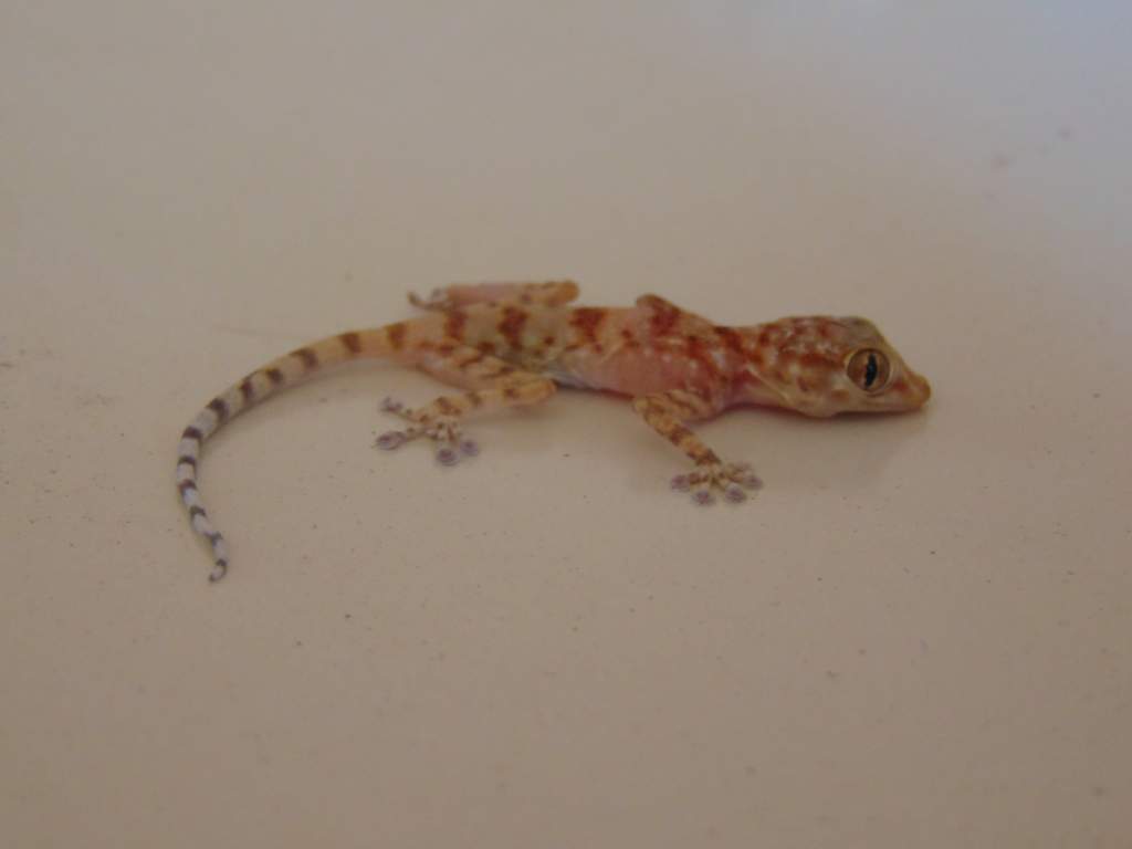
[[[928,381],[872,321],[855,316],[786,318],[760,328],[753,376],[781,406],[806,415],[918,410]]]

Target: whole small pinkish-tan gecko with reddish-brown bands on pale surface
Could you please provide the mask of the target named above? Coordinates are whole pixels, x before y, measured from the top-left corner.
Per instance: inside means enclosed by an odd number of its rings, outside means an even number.
[[[672,489],[707,505],[717,496],[746,500],[762,481],[746,463],[720,458],[689,424],[743,405],[775,406],[809,417],[918,410],[932,394],[876,326],[858,317],[797,316],[749,326],[717,325],[655,294],[633,307],[572,306],[573,281],[480,283],[410,294],[422,314],[349,331],[272,360],[214,397],[185,428],[177,489],[192,530],[212,549],[209,580],[229,569],[224,538],[197,488],[201,445],[238,413],[343,362],[387,359],[415,367],[458,392],[423,406],[386,398],[381,408],[404,427],[379,436],[393,449],[421,439],[453,465],[479,452],[463,430],[473,413],[529,406],[557,387],[604,391],[632,400],[652,430],[683,452],[689,472]]]

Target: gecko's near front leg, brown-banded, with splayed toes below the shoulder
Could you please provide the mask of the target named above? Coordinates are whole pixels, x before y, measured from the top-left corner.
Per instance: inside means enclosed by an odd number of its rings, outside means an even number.
[[[633,400],[633,409],[649,426],[683,451],[696,464],[695,471],[672,479],[672,488],[692,491],[696,504],[715,500],[714,490],[732,503],[746,500],[747,489],[762,488],[762,481],[745,463],[724,463],[685,422],[712,418],[717,408],[701,395],[684,389],[670,389]]]

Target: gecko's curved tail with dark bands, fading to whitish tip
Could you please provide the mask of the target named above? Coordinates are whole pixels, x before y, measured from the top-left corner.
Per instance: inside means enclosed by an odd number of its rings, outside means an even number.
[[[197,463],[201,444],[215,434],[221,424],[245,410],[255,406],[281,389],[305,378],[349,360],[380,358],[394,354],[404,344],[404,323],[369,331],[342,333],[297,349],[263,368],[256,369],[241,381],[228,387],[208,402],[192,423],[181,434],[177,456],[177,489],[189,512],[192,530],[208,540],[215,564],[209,581],[220,581],[228,573],[229,557],[224,538],[217,531],[197,489]]]

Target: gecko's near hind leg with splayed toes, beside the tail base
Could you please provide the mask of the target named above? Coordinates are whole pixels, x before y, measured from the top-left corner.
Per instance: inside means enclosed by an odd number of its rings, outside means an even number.
[[[464,437],[461,423],[472,412],[506,406],[526,406],[546,401],[555,394],[550,378],[523,371],[496,357],[464,345],[424,357],[419,368],[440,380],[461,386],[466,392],[441,395],[429,404],[409,409],[393,398],[381,402],[383,410],[405,419],[410,427],[381,434],[375,446],[398,448],[419,437],[427,437],[439,447],[436,458],[443,465],[458,462],[461,454],[479,453],[477,444]]]

